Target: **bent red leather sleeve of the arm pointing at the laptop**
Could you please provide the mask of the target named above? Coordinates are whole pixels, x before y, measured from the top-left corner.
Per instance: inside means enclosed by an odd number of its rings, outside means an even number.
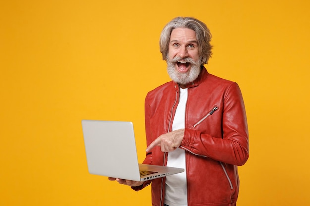
[[[222,138],[186,128],[181,148],[220,162],[244,165],[249,157],[248,127],[243,98],[236,83],[224,94],[221,124]]]

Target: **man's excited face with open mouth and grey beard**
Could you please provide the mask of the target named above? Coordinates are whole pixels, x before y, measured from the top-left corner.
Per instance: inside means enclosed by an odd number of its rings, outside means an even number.
[[[181,87],[198,77],[201,60],[194,30],[187,28],[172,30],[167,64],[170,78]]]

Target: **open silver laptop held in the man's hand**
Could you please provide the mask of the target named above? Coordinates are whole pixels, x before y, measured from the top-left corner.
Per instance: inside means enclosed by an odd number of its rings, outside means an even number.
[[[82,120],[82,129],[91,174],[146,181],[184,172],[183,168],[139,164],[132,122]]]

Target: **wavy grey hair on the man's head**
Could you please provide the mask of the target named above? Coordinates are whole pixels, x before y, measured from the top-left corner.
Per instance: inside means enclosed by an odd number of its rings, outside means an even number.
[[[188,28],[195,31],[202,65],[207,64],[212,55],[212,45],[210,44],[212,35],[205,23],[193,17],[176,17],[163,28],[159,41],[162,59],[167,60],[170,35],[176,28]]]

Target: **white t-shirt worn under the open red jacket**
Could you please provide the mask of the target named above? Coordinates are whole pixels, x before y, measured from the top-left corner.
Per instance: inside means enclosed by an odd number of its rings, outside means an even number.
[[[185,128],[186,101],[187,88],[180,88],[180,101],[174,116],[172,131]],[[185,150],[177,148],[169,152],[167,166],[184,168],[185,171],[166,177],[164,203],[169,206],[187,206]]]

